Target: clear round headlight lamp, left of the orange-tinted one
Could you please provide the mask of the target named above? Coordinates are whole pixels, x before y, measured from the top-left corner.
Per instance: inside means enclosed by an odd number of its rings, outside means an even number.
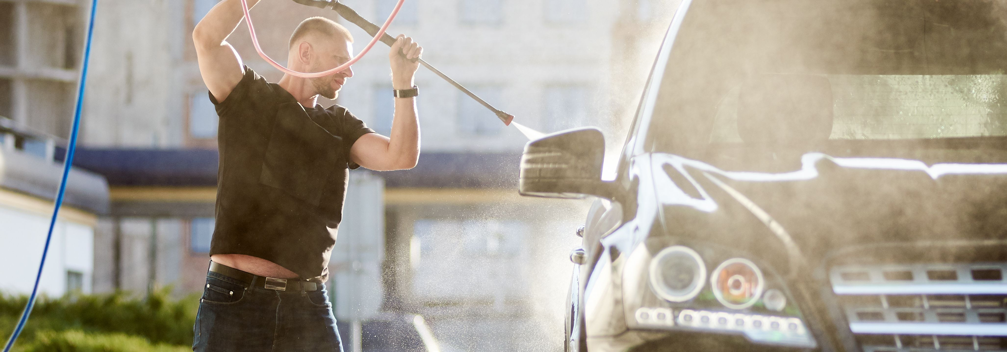
[[[706,265],[696,250],[684,245],[662,249],[651,260],[651,288],[671,302],[692,300],[703,290]]]

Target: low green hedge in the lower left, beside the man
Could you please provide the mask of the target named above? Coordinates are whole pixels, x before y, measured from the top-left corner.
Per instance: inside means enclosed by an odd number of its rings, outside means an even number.
[[[198,297],[174,301],[170,289],[146,298],[127,293],[40,297],[16,350],[122,351],[190,350]],[[9,336],[27,303],[25,296],[0,296],[0,334]]]

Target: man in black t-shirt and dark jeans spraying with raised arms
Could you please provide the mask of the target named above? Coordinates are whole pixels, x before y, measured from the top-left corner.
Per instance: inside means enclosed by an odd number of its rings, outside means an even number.
[[[241,19],[239,0],[223,0],[192,33],[220,116],[221,154],[211,262],[192,349],[341,350],[321,284],[342,217],[347,168],[416,165],[413,74],[423,48],[404,36],[392,46],[392,85],[402,98],[394,98],[392,133],[385,137],[342,107],[316,105],[318,96],[334,99],[351,69],[271,83],[244,66],[225,41]],[[335,67],[349,60],[351,43],[339,24],[308,18],[290,38],[288,67]]]

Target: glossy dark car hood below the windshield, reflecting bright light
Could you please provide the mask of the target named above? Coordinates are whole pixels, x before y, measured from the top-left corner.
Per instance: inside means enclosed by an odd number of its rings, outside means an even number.
[[[670,154],[652,161],[665,227],[729,243],[757,248],[781,230],[806,255],[817,255],[851,244],[1007,235],[1007,164],[810,153],[800,170],[759,173]]]

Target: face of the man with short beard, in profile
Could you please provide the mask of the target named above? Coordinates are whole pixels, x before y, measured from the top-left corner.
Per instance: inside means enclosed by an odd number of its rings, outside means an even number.
[[[310,65],[312,72],[332,69],[346,63],[349,61],[349,53],[353,50],[352,44],[342,38],[317,40],[315,44],[312,44],[312,48],[314,49]],[[327,99],[335,99],[339,95],[342,84],[346,83],[346,78],[351,76],[353,76],[352,68],[346,68],[326,76],[311,78],[311,85],[314,86],[315,94]]]

